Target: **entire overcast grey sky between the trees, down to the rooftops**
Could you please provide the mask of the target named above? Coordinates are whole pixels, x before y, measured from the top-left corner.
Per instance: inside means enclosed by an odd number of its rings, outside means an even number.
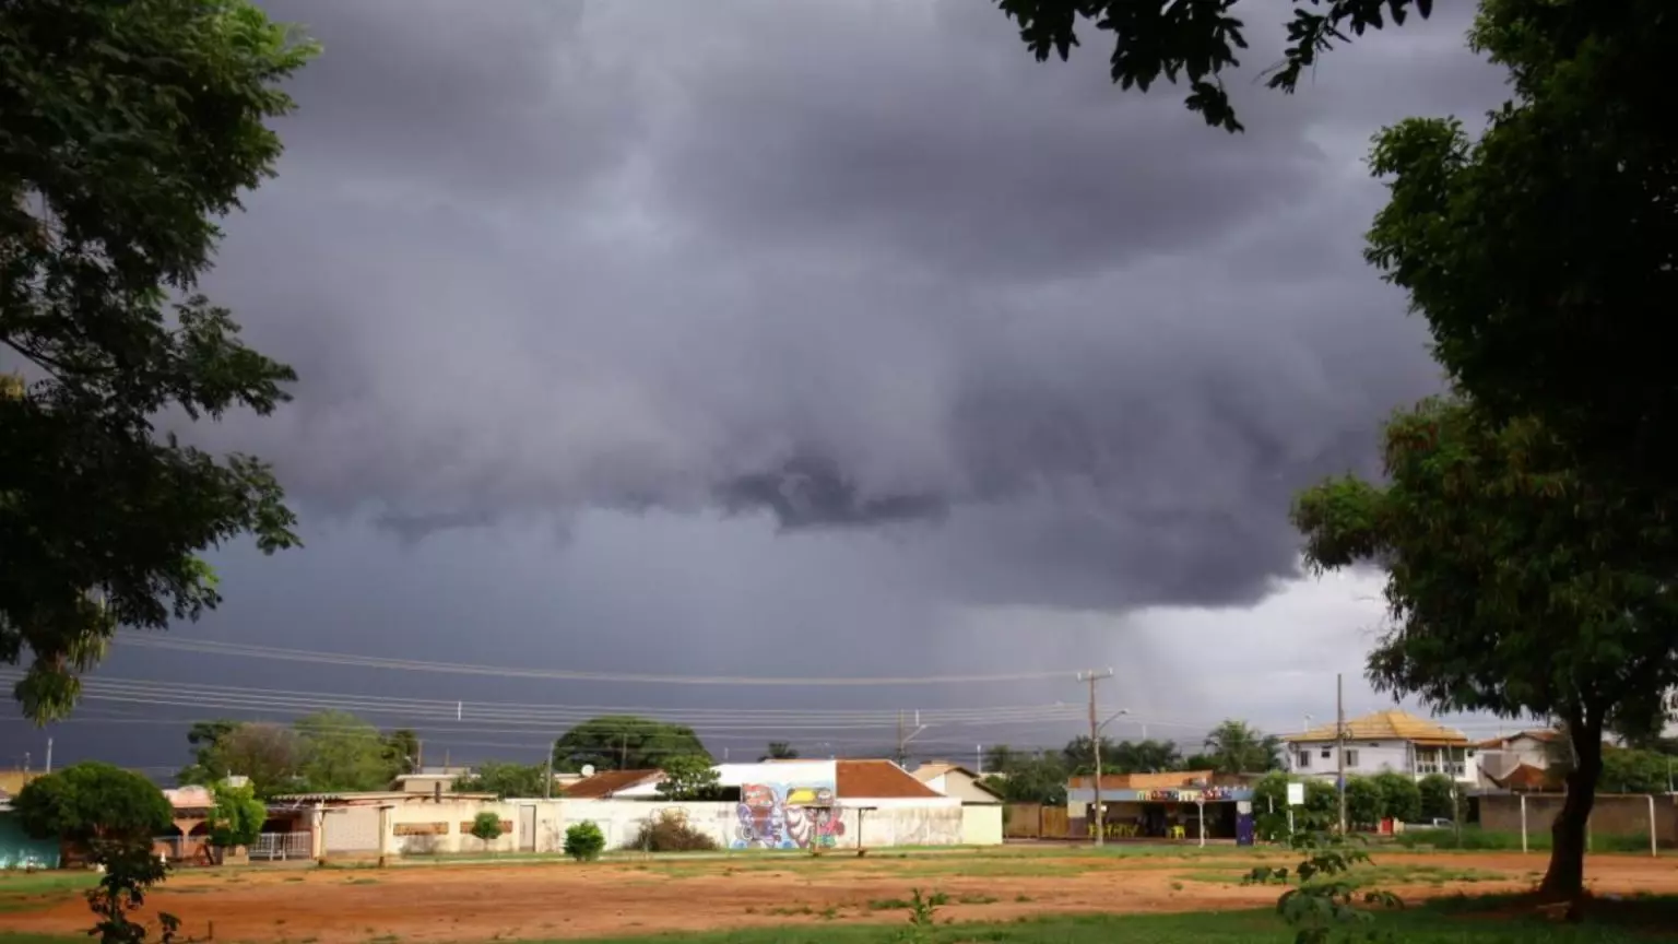
[[[1336,672],[1349,711],[1384,707],[1361,679],[1379,578],[1302,580],[1285,512],[1373,472],[1381,418],[1436,390],[1361,260],[1363,156],[1386,123],[1502,99],[1467,5],[1295,96],[1233,77],[1242,136],[1180,89],[1118,91],[1102,35],[1037,64],[982,0],[267,7],[326,52],[206,287],[300,381],[198,437],[277,464],[307,548],[218,554],[227,603],[178,637],[693,675],[1113,665],[1111,709],[1188,739],[1331,717]],[[1280,15],[1252,39],[1269,66]],[[1084,695],[117,650],[102,677],[530,704]],[[173,766],[180,731],[149,719],[193,714],[92,705],[59,756]],[[0,763],[42,739],[0,726]]]

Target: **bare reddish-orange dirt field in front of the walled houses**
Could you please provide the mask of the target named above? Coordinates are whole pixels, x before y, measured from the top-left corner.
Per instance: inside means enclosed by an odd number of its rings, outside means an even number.
[[[1368,880],[1406,899],[1525,890],[1544,855],[1416,855],[1378,852]],[[1243,887],[1260,860],[1284,853],[1213,855],[1074,850],[956,855],[829,855],[576,865],[404,865],[374,868],[248,868],[176,873],[148,904],[183,917],[183,931],[216,941],[386,944],[638,936],[767,924],[896,922],[911,889],[948,900],[938,915],[1000,920],[1022,914],[1168,912],[1264,907],[1277,889]],[[1678,858],[1592,857],[1596,894],[1678,894]],[[5,885],[0,884],[0,894]],[[89,915],[79,897],[10,899],[8,931],[76,934]],[[383,939],[383,941],[381,941]]]

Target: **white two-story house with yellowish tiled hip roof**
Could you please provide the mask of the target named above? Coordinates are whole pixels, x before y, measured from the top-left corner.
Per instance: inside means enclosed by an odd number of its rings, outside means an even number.
[[[1341,773],[1332,724],[1284,737],[1287,773],[1332,781]],[[1346,776],[1401,773],[1480,779],[1478,749],[1462,731],[1401,711],[1378,711],[1346,721]]]

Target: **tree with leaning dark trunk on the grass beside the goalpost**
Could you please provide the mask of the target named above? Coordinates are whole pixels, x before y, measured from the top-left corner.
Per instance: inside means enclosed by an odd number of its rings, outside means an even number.
[[[1498,423],[1463,398],[1398,413],[1384,465],[1384,487],[1344,477],[1299,496],[1305,559],[1388,569],[1378,689],[1567,724],[1579,763],[1540,894],[1577,897],[1602,732],[1660,727],[1678,682],[1671,571],[1636,553],[1636,534],[1661,526],[1629,521],[1638,511],[1542,425]]]

